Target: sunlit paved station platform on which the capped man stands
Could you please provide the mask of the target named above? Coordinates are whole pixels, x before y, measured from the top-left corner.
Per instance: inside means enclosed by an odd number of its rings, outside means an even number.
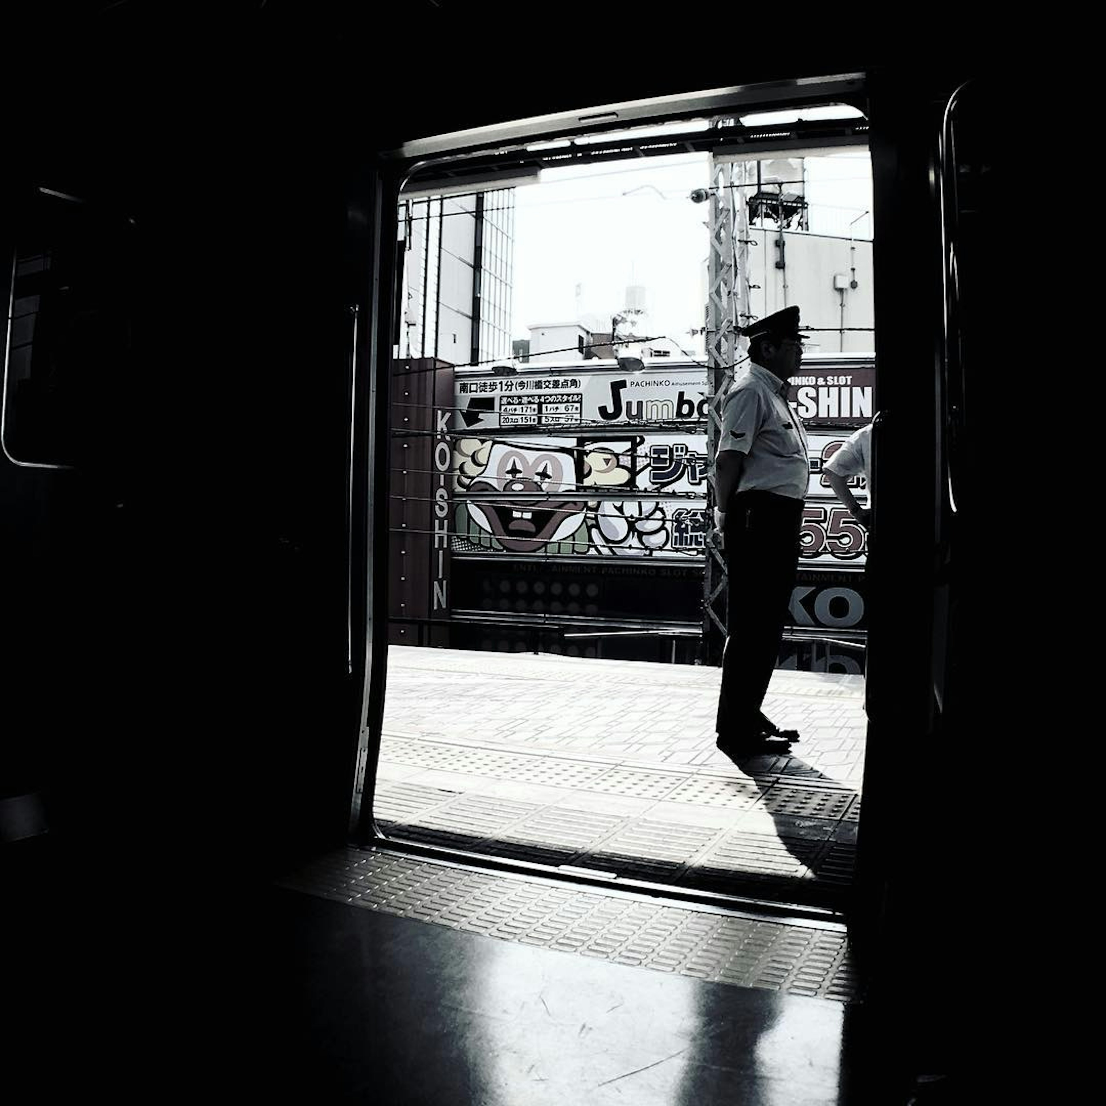
[[[865,716],[855,676],[776,671],[792,755],[714,748],[719,671],[389,650],[375,814],[389,836],[836,909]]]

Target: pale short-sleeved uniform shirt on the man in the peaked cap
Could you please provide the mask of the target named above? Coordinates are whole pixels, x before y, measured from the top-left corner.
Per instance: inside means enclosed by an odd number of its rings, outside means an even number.
[[[787,404],[787,382],[750,362],[722,405],[718,451],[745,455],[738,491],[805,499],[810,461],[806,429]]]

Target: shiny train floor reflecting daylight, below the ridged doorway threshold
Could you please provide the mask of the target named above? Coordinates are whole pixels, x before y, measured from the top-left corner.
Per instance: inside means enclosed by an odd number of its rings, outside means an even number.
[[[863,1009],[566,956],[289,894],[312,1097],[388,1106],[846,1106]],[[280,1008],[278,1008],[280,1009]],[[865,1072],[867,1077],[869,1073]],[[872,1099],[876,1100],[876,1099]],[[881,1098],[884,1106],[894,1102]],[[905,1100],[905,1099],[899,1099]]]

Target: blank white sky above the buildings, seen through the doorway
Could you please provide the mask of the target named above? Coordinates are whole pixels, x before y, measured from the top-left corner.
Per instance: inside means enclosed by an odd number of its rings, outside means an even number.
[[[872,208],[866,153],[806,159],[811,231],[848,236]],[[710,184],[707,154],[547,169],[515,190],[514,337],[536,323],[596,316],[599,330],[625,305],[628,284],[645,285],[650,332],[702,354],[709,204],[692,189]],[[872,233],[869,217],[854,227]],[[577,291],[578,289],[578,291]]]

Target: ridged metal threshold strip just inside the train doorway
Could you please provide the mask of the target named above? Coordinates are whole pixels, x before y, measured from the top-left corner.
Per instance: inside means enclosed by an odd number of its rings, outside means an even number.
[[[836,926],[737,917],[376,849],[341,849],[281,886],[612,963],[839,1002],[857,997]]]

